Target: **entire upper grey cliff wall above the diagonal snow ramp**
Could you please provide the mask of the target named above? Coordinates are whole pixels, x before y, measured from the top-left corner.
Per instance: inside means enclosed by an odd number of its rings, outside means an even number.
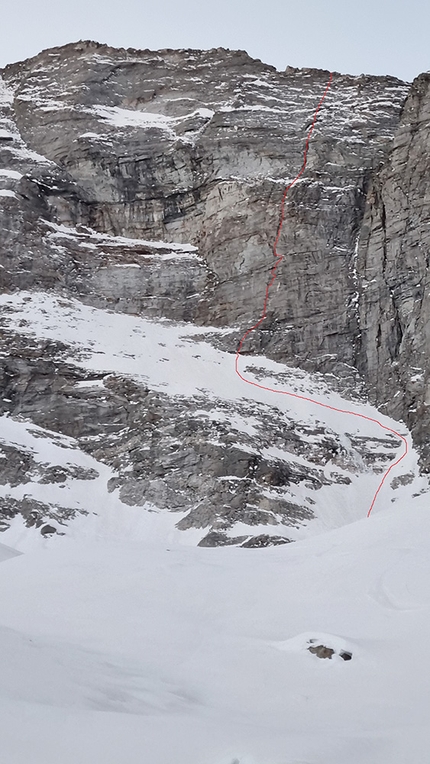
[[[231,327],[222,341],[234,350],[261,311],[283,188],[328,72],[277,72],[243,51],[81,42],[2,76],[3,289],[59,286],[122,312]],[[427,465],[429,79],[410,89],[334,75],[288,196],[267,319],[246,348],[360,373]],[[53,234],[58,224],[81,238]],[[94,231],[191,244],[198,258],[173,266],[143,249],[133,269],[136,244],[112,250]]]

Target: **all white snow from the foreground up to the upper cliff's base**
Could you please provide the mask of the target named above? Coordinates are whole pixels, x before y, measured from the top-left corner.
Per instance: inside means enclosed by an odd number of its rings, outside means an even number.
[[[7,331],[64,343],[68,363],[120,370],[172,396],[205,394],[218,416],[220,401],[234,411],[253,396],[298,426],[323,422],[346,440],[368,439],[369,448],[385,437],[370,422],[245,385],[233,373],[234,356],[210,344],[215,330],[206,337],[189,324],[43,293],[3,295],[1,304]],[[244,364],[271,386],[345,405],[322,378],[264,358]],[[366,404],[348,406],[404,431]],[[252,432],[256,421],[232,415],[238,431]],[[49,539],[20,515],[2,534],[3,761],[427,761],[430,514],[412,449],[393,473],[409,471],[412,481],[387,484],[370,519],[381,473],[357,464],[350,485],[318,492],[317,519],[296,528],[297,543],[207,549],[192,545],[199,531],[176,528],[178,513],[128,507],[108,493],[111,469],[72,438],[19,418],[1,424],[5,443],[70,473],[61,485],[35,480],[3,486],[3,495],[87,513],[66,528],[58,523],[64,535]],[[80,479],[78,468],[94,479]],[[332,658],[309,652],[320,644]]]

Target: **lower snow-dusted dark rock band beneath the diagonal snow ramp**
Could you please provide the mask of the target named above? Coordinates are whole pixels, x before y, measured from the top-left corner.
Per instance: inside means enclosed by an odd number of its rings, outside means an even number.
[[[76,351],[76,361],[67,362],[66,345],[24,337],[28,329],[19,326],[22,319],[15,333],[16,315],[11,311],[5,320],[3,406],[39,428],[75,439],[109,465],[108,490],[117,491],[123,503],[185,512],[178,527],[202,529],[205,546],[280,543],[278,536],[272,540],[259,533],[262,527],[281,525],[291,532],[314,517],[323,487],[348,486],[359,462],[367,468],[370,458],[370,468],[378,471],[395,453],[393,439],[361,442],[350,435],[339,443],[338,433],[328,427],[312,428],[255,402],[214,401],[203,390],[188,398],[171,396],[128,376],[85,372]],[[9,487],[98,475],[73,466],[41,468],[31,452],[7,444],[4,456],[3,483]],[[5,510],[10,504],[4,500]],[[54,507],[48,518],[52,512],[62,517]],[[65,518],[70,514],[65,512]],[[225,533],[237,524],[250,530],[232,540]],[[257,536],[251,543],[252,531]]]

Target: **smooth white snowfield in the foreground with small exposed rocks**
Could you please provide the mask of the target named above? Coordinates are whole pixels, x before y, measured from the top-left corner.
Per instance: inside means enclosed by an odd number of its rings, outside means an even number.
[[[109,514],[33,548],[27,530],[0,567],[5,762],[427,761],[425,496],[261,551],[183,546],[169,513]]]

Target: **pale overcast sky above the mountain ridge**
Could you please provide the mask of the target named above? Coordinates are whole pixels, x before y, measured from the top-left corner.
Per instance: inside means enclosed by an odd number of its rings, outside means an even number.
[[[0,0],[0,66],[79,39],[242,48],[278,69],[411,80],[430,69],[430,0]]]

